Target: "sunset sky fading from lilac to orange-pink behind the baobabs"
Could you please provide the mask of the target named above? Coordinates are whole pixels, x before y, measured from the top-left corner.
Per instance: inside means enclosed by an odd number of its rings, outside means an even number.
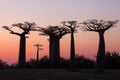
[[[120,20],[120,0],[0,0],[0,59],[7,63],[18,61],[19,36],[9,34],[2,26],[24,21],[35,22],[40,27],[60,25],[61,21],[76,20],[78,23],[90,19]],[[106,51],[120,53],[120,21],[117,27],[105,33]],[[40,43],[44,50],[40,57],[48,55],[48,36],[31,32],[27,39],[27,60],[36,58]],[[70,34],[61,39],[61,57],[69,58]],[[78,29],[75,33],[77,55],[95,59],[98,48],[98,34]]]

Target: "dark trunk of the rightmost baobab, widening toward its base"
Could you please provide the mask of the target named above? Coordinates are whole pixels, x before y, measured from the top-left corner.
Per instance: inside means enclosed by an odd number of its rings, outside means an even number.
[[[104,71],[105,68],[105,40],[104,32],[99,32],[99,48],[96,60],[97,71]]]

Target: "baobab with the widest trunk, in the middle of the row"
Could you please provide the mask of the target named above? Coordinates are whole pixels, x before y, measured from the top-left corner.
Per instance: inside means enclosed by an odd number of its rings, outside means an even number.
[[[59,26],[40,28],[41,35],[49,36],[50,66],[57,67],[60,60],[60,39],[70,33],[69,29]]]

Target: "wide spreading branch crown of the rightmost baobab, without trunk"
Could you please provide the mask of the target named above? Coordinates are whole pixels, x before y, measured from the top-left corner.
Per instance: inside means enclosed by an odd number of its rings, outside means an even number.
[[[95,31],[95,32],[100,32],[100,31],[106,31],[109,28],[113,27],[116,23],[118,22],[118,20],[116,21],[104,21],[104,20],[88,20],[88,21],[84,21],[83,23],[81,23],[82,29],[85,31]]]

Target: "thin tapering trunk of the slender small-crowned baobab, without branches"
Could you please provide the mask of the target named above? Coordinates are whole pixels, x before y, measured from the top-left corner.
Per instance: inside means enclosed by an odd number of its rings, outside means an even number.
[[[75,60],[74,33],[71,32],[70,67],[74,66],[74,60]]]

